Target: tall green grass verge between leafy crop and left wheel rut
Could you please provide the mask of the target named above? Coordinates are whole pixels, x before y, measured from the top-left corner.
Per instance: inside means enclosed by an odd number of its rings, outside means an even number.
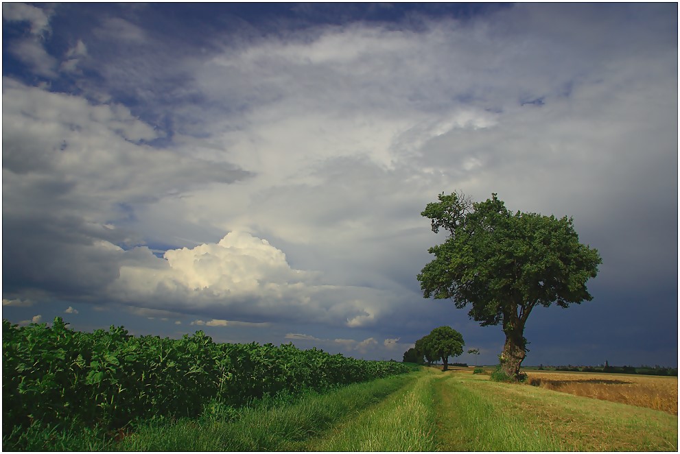
[[[140,427],[120,451],[296,451],[347,415],[378,403],[410,385],[413,374],[348,385],[328,394],[309,392],[290,403],[265,403],[239,410],[231,420],[206,417]]]

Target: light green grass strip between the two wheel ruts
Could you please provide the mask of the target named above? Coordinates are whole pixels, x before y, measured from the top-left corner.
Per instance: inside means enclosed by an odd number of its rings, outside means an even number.
[[[357,415],[326,435],[311,440],[306,451],[436,451],[432,381],[427,372],[412,385]]]

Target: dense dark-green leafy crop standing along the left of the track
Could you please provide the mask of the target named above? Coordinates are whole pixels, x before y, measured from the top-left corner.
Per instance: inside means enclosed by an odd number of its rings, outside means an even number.
[[[61,318],[51,327],[3,320],[2,342],[3,447],[10,450],[20,449],[19,434],[37,423],[58,433],[75,419],[115,431],[156,417],[222,418],[265,396],[410,370],[293,344],[215,344],[202,331],[182,339],[133,337],[122,326],[81,333]]]

